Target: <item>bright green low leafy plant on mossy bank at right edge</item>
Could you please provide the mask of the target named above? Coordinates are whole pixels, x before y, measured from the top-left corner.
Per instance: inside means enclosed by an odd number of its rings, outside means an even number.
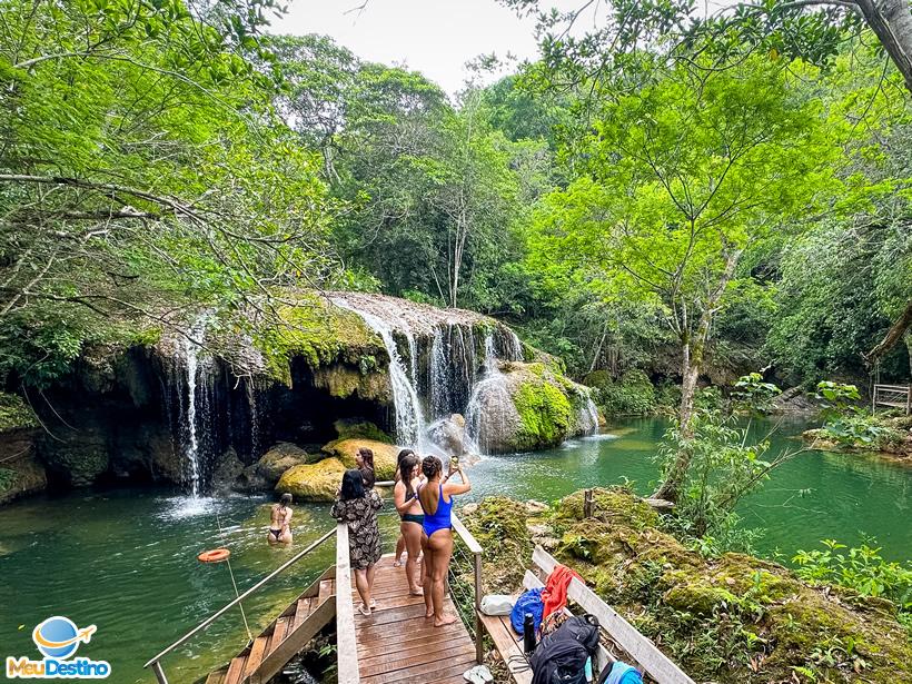
[[[888,598],[900,612],[912,613],[912,564],[885,561],[875,544],[871,539],[849,548],[835,539],[823,539],[823,549],[799,551],[792,562],[797,565],[799,576],[807,582]]]

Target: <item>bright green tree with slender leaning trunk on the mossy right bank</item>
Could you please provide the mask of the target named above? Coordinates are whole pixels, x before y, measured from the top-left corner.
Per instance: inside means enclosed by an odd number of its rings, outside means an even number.
[[[831,187],[840,150],[817,103],[761,58],[721,71],[678,63],[608,103],[593,129],[585,170],[548,198],[533,249],[662,316],[681,351],[686,437],[742,255]],[[688,464],[683,450],[658,496],[676,496]]]

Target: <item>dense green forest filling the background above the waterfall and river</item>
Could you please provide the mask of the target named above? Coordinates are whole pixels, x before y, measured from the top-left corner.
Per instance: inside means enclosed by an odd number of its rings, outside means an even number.
[[[577,377],[904,378],[908,334],[864,356],[912,298],[902,46],[791,4],[541,12],[539,61],[449,98],[269,0],[6,1],[0,377],[305,287],[490,314]]]

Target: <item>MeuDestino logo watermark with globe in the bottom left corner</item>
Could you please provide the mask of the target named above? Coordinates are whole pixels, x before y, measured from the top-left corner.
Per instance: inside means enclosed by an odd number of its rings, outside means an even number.
[[[107,661],[73,658],[79,644],[88,644],[98,628],[95,625],[77,627],[69,617],[54,615],[39,624],[31,633],[41,661],[28,656],[7,656],[7,677],[10,680],[105,680],[111,674]],[[72,658],[72,660],[70,660]]]

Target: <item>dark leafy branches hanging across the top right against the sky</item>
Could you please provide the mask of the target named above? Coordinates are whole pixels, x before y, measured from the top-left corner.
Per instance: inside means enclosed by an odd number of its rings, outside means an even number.
[[[644,47],[684,60],[715,52],[720,62],[760,48],[824,65],[839,53],[846,33],[868,27],[912,90],[912,8],[906,0],[744,1],[710,16],[690,0],[581,0],[563,12],[539,9],[539,0],[502,2],[537,14],[545,65],[574,83],[623,72]],[[578,29],[583,17],[593,29]]]

